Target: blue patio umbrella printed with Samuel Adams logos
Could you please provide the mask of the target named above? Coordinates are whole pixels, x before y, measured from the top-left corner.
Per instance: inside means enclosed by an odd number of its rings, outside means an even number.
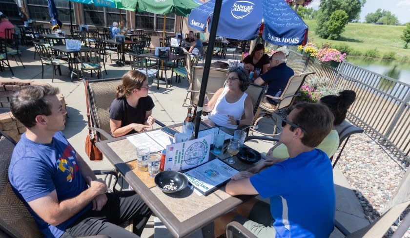
[[[193,9],[190,27],[203,31],[208,18],[212,24],[215,0]],[[223,0],[217,35],[238,40],[254,40],[264,23],[263,39],[277,45],[306,44],[308,25],[285,0]],[[208,31],[211,29],[209,28]]]

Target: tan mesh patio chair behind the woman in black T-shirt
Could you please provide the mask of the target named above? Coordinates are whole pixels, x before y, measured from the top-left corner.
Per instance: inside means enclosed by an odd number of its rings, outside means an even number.
[[[115,99],[117,86],[122,83],[121,78],[113,79],[84,79],[86,103],[89,107],[87,119],[92,130],[97,132],[97,140],[111,139],[109,109],[111,102]],[[165,126],[161,121],[156,120],[160,126]]]

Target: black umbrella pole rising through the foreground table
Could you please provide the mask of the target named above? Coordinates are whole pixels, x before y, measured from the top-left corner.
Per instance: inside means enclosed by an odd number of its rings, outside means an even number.
[[[214,47],[216,31],[218,29],[219,15],[221,14],[221,7],[222,7],[222,0],[215,0],[211,31],[209,32],[208,49],[213,49]],[[194,125],[194,130],[195,130],[194,137],[195,138],[198,138],[199,124],[201,123],[201,115],[202,115],[202,110],[204,107],[205,91],[206,91],[206,85],[208,84],[209,69],[211,68],[212,54],[213,54],[213,50],[206,51],[204,74],[202,76],[201,91],[199,93],[199,99],[198,99],[198,108],[197,108],[197,113],[195,115],[195,125]]]

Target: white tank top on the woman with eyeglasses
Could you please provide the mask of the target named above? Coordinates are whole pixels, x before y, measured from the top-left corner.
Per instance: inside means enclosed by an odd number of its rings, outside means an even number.
[[[245,99],[247,94],[244,93],[238,101],[229,103],[225,99],[227,91],[228,87],[225,87],[224,91],[222,91],[216,101],[214,109],[209,114],[208,119],[212,120],[219,126],[236,129],[238,127],[237,125],[228,123],[228,115],[233,116],[236,120],[240,120],[242,118],[242,115],[245,113]]]

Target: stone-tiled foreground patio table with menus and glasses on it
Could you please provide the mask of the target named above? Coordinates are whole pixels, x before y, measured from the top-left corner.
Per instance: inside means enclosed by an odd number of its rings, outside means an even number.
[[[182,131],[182,123],[168,127]],[[204,124],[200,125],[200,130],[207,128]],[[126,139],[126,136],[97,142],[97,147],[176,238],[191,234],[254,197],[232,197],[225,193],[225,186],[208,196],[198,195],[189,188],[178,193],[165,194],[155,185],[148,172],[138,170],[135,160],[124,162],[136,157],[136,147]],[[229,155],[226,155],[220,159],[224,161],[228,157]],[[215,158],[216,156],[211,154],[209,160]],[[243,171],[253,165],[237,160],[230,166]]]

